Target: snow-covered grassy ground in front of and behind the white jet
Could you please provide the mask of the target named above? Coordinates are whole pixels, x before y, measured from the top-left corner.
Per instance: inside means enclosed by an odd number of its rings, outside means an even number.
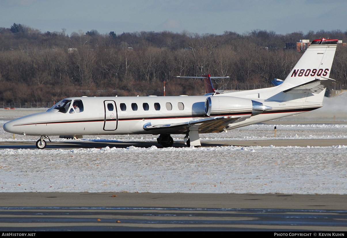
[[[347,121],[346,99],[346,93],[326,98],[327,106],[316,112],[274,122],[276,139],[347,138],[347,124],[333,124],[334,120]],[[277,124],[288,121],[294,124]],[[0,121],[0,141],[38,139],[19,135],[13,139],[13,134],[2,129],[5,122]],[[274,125],[257,124],[228,133],[202,134],[201,139],[274,139]],[[173,137],[183,140],[182,135]],[[156,136],[85,136],[84,140],[156,141]],[[1,192],[347,194],[346,182],[347,145],[0,150]]]

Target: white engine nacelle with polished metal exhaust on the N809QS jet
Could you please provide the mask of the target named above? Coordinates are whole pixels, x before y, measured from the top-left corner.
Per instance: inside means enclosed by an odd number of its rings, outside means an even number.
[[[264,106],[261,102],[246,98],[229,96],[212,96],[205,100],[205,113],[208,116],[223,116],[228,114],[261,114],[272,107]]]

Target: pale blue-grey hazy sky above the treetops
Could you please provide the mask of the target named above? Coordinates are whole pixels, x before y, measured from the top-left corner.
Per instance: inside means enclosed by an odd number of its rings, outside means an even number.
[[[0,27],[101,34],[347,31],[347,0],[0,0]]]

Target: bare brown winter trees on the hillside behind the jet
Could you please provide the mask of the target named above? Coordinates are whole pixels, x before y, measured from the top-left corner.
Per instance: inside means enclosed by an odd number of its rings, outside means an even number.
[[[0,102],[42,102],[72,96],[202,95],[199,80],[175,76],[230,76],[225,83],[271,83],[285,79],[302,53],[286,42],[330,38],[347,32],[238,34],[183,31],[100,34],[96,30],[40,32],[21,24],[0,27]],[[330,77],[347,83],[347,47],[338,47]]]

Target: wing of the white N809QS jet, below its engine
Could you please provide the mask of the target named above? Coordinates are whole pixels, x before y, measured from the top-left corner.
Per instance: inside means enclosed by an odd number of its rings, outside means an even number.
[[[225,128],[229,127],[230,123],[235,122],[242,116],[216,116],[213,118],[206,118],[201,120],[191,120],[182,123],[152,125],[150,122],[143,125],[146,131],[152,131],[155,134],[161,133],[187,133],[191,126],[198,126],[200,133],[222,132]]]

